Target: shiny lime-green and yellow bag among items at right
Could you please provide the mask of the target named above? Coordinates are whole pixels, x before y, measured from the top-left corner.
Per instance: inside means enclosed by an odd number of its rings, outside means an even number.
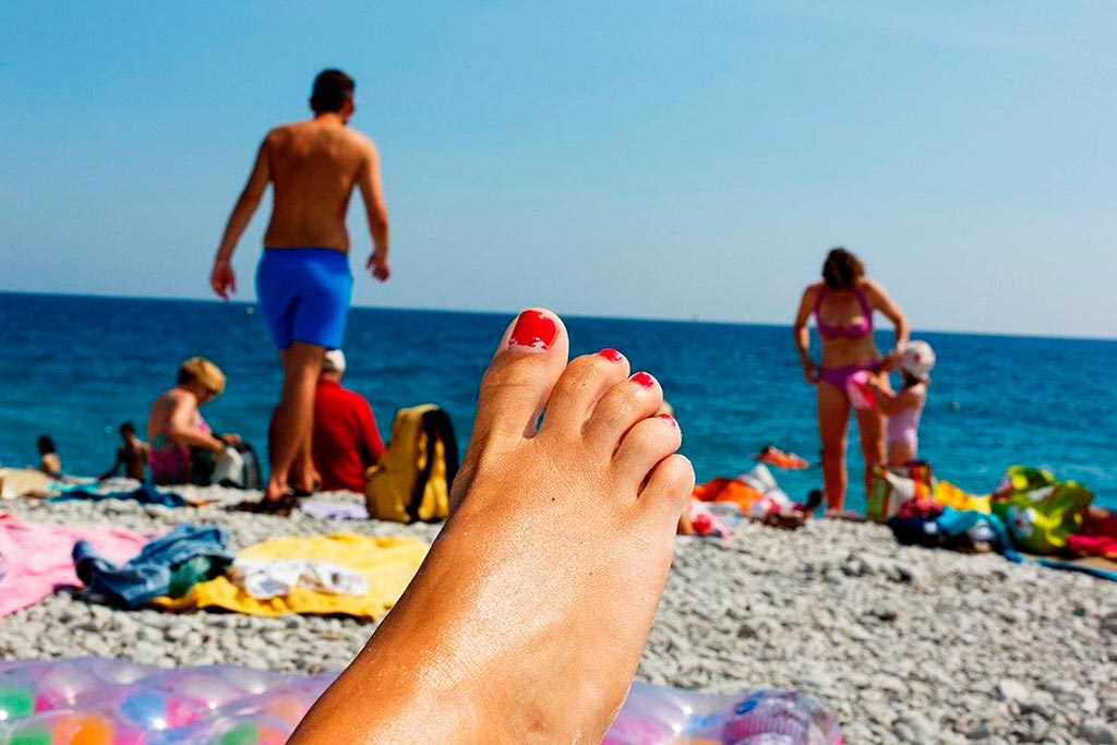
[[[1018,548],[1052,554],[1066,547],[1069,535],[1080,531],[1082,513],[1092,499],[1081,484],[1058,481],[1027,491],[1000,491],[993,495],[992,506]]]

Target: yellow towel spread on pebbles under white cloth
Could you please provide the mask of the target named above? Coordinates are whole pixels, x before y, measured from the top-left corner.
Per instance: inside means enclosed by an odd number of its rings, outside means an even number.
[[[295,588],[289,595],[256,600],[227,577],[195,584],[179,599],[156,598],[152,604],[169,611],[226,608],[249,615],[284,613],[345,613],[375,620],[395,604],[427,556],[418,538],[372,538],[338,533],[311,538],[271,538],[245,548],[240,558],[317,558],[349,566],[369,581],[365,595],[332,595]]]

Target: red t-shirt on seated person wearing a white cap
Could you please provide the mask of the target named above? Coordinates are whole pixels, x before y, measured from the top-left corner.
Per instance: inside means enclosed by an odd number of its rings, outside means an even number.
[[[319,379],[311,455],[322,488],[363,493],[364,470],[383,452],[384,442],[365,398],[336,381]]]

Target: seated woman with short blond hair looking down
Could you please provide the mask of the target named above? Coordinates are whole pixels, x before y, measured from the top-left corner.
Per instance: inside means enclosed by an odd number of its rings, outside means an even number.
[[[220,455],[238,434],[214,437],[199,408],[225,390],[225,374],[206,357],[190,357],[179,367],[178,385],[164,391],[147,417],[151,476],[155,484],[194,484],[200,480],[195,459],[202,452]]]

